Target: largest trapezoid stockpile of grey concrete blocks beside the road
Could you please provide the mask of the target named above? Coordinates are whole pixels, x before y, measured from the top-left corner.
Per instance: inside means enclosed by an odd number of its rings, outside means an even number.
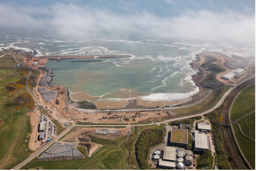
[[[57,157],[84,157],[76,148],[75,143],[66,143],[61,145],[60,142],[55,142],[48,150],[46,150],[38,160],[57,158]]]

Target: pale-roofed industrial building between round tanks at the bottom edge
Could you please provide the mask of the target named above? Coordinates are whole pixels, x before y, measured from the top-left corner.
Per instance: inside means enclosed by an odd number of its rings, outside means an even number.
[[[159,160],[159,167],[174,169],[176,166],[177,151],[175,147],[165,146],[163,152],[163,159]]]

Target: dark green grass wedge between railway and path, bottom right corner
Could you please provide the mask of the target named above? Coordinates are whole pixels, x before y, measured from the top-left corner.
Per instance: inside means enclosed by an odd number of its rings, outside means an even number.
[[[238,125],[232,124],[232,126],[242,152],[244,153],[251,167],[255,169],[255,142],[242,135]]]

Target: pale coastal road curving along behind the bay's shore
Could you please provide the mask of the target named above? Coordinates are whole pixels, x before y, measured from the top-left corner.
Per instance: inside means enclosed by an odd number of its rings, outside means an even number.
[[[240,83],[238,84],[232,84],[233,87],[231,87],[224,95],[223,97],[220,99],[220,101],[211,109],[205,111],[205,112],[202,112],[202,113],[198,113],[198,114],[195,114],[195,115],[189,115],[189,116],[185,116],[185,117],[179,117],[179,118],[174,118],[174,119],[168,119],[168,120],[165,120],[165,121],[161,121],[161,122],[157,122],[157,123],[150,123],[150,124],[138,124],[138,125],[132,125],[132,126],[145,126],[145,125],[153,125],[153,124],[166,124],[168,126],[168,122],[170,121],[177,121],[177,120],[182,120],[182,119],[188,119],[190,117],[195,117],[195,116],[203,116],[204,114],[206,113],[209,113],[209,112],[212,112],[213,110],[215,110],[215,108],[218,108],[222,103],[223,101],[226,99],[226,97],[229,95],[229,93],[234,90],[238,85],[242,84],[242,83],[245,83],[248,79],[251,79],[255,77],[254,76],[251,76],[243,81],[241,81]],[[255,80],[254,80],[255,82]],[[251,83],[251,81],[249,81],[249,83]],[[248,84],[248,83],[247,83]],[[233,93],[233,92],[232,92]],[[223,121],[225,121],[224,119],[224,116],[223,116]],[[20,164],[18,164],[16,167],[14,167],[14,169],[18,169],[18,168],[21,168],[22,166],[24,166],[25,164],[27,164],[28,162],[30,162],[32,159],[34,159],[36,156],[38,156],[39,154],[41,154],[43,151],[45,151],[48,147],[50,147],[52,144],[54,144],[55,142],[57,142],[63,135],[65,135],[66,133],[68,133],[68,131],[75,127],[75,126],[81,126],[81,127],[88,127],[88,126],[94,126],[94,127],[98,127],[98,126],[129,126],[129,125],[77,125],[77,124],[73,124],[72,126],[70,126],[68,129],[64,130],[58,137],[56,137],[55,139],[53,139],[52,141],[50,141],[48,144],[46,144],[45,146],[43,146],[39,151],[36,151],[34,152],[32,155],[30,155],[26,160],[24,160],[23,162],[21,162]],[[226,135],[229,135],[228,133],[225,133]],[[229,139],[229,138],[227,138]],[[233,146],[231,144],[231,146]],[[238,160],[239,162],[239,160]],[[242,168],[242,166],[241,166]],[[243,169],[243,168],[242,168]]]

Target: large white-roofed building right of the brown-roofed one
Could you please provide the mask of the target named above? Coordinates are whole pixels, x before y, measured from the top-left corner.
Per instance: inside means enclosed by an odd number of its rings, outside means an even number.
[[[195,130],[195,151],[204,151],[209,149],[208,135],[199,133]]]

